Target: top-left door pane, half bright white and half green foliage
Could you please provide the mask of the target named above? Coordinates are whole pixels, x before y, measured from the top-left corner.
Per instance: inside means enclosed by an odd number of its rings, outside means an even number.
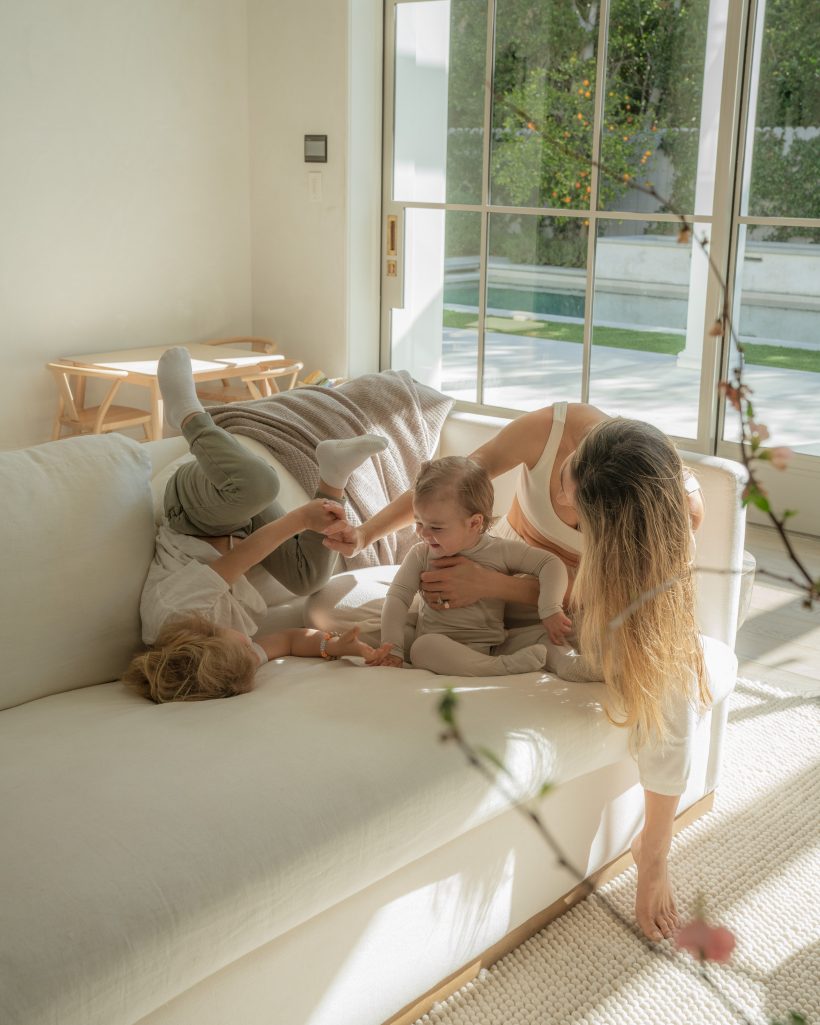
[[[480,203],[485,0],[396,9],[394,198]]]

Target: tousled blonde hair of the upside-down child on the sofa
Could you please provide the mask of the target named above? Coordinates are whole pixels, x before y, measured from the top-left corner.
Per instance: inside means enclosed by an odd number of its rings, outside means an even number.
[[[148,651],[134,655],[123,680],[156,704],[205,701],[245,694],[257,668],[250,648],[192,614],[166,623]]]

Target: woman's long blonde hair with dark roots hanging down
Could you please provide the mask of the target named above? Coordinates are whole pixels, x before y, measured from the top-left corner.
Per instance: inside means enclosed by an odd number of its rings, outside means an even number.
[[[598,654],[619,699],[612,722],[637,727],[639,745],[661,741],[667,699],[710,700],[684,466],[657,427],[623,418],[596,424],[570,465],[584,540],[580,648]]]

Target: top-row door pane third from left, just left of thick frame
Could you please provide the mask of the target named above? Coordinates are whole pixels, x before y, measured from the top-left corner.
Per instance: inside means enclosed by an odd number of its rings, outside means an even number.
[[[707,14],[708,0],[613,0],[601,126],[601,209],[695,210]],[[715,26],[714,31],[721,30]],[[722,67],[712,65],[711,94],[717,96]],[[709,153],[704,149],[703,157]],[[712,176],[713,160],[709,187]],[[630,187],[631,181],[654,188],[667,203]],[[699,213],[708,212],[706,202],[710,206],[710,188],[703,192]]]

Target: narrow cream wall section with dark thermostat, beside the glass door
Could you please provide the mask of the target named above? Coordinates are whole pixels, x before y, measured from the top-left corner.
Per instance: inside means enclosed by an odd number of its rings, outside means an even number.
[[[253,327],[305,373],[377,369],[380,26],[380,0],[248,0]]]

